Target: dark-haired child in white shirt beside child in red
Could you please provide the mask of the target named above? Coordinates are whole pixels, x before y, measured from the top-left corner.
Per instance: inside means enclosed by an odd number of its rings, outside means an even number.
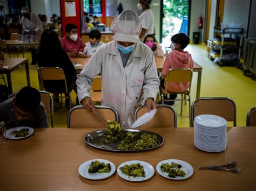
[[[100,38],[102,34],[98,30],[92,30],[89,33],[89,42],[85,43],[84,49],[81,49],[79,52],[79,57],[91,58],[92,54],[97,51],[97,49],[104,45]]]

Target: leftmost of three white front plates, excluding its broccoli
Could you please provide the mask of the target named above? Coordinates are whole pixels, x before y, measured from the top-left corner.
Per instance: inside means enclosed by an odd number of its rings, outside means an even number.
[[[104,162],[105,164],[110,164],[111,166],[111,170],[109,173],[89,173],[88,169],[92,163],[92,161],[98,160],[100,162]],[[78,168],[78,172],[81,176],[83,176],[86,179],[90,179],[90,180],[100,180],[100,179],[105,179],[109,176],[111,176],[114,171],[116,171],[116,166],[114,166],[114,164],[109,161],[109,160],[104,160],[104,159],[92,159],[92,160],[88,160],[85,161],[83,164],[81,164]]]

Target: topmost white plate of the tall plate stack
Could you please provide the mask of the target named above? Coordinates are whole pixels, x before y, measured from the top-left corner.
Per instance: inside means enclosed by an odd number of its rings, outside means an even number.
[[[217,115],[199,115],[194,118],[194,121],[201,126],[211,128],[218,128],[227,125],[226,119]]]

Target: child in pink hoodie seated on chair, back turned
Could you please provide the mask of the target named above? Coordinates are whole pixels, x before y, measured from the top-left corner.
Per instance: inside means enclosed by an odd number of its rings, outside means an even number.
[[[171,48],[170,52],[164,61],[164,66],[162,69],[163,79],[160,82],[160,86],[164,87],[164,78],[169,71],[169,69],[176,68],[190,68],[193,70],[194,63],[190,53],[185,52],[184,48],[190,43],[190,38],[184,33],[178,33],[172,36],[171,38]],[[167,90],[173,93],[180,93],[186,91],[190,87],[189,82],[178,82],[178,83],[169,83],[167,84]],[[177,97],[177,94],[171,94],[170,100],[174,100]],[[167,103],[173,105],[174,102]]]

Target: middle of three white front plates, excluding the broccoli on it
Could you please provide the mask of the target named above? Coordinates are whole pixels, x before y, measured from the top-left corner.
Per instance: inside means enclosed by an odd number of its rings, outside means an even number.
[[[143,166],[144,168],[144,172],[145,172],[145,177],[132,177],[132,176],[127,176],[126,174],[123,174],[122,171],[120,171],[120,167],[124,166],[124,165],[131,165],[131,164],[137,164],[139,163],[140,165]],[[124,162],[123,164],[120,164],[118,167],[117,167],[117,174],[125,179],[125,180],[129,180],[129,181],[144,181],[144,180],[147,180],[147,179],[150,179],[153,175],[154,175],[154,167],[147,163],[147,162],[144,162],[144,161],[140,161],[140,160],[130,160],[130,161],[126,161]]]

